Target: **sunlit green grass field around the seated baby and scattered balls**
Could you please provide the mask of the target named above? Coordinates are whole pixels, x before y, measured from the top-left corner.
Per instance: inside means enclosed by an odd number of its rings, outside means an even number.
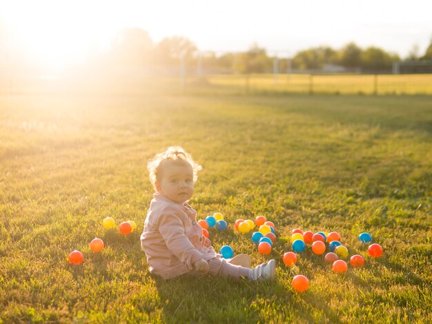
[[[431,97],[3,95],[0,125],[4,323],[432,321]],[[275,282],[150,276],[146,161],[173,144],[204,167],[199,218],[222,212],[230,224],[210,231],[215,249],[276,259]],[[259,214],[277,226],[270,256],[233,230]],[[106,216],[139,228],[106,231]],[[295,227],[340,232],[366,266],[333,274],[308,248],[286,267]],[[364,231],[382,258],[367,256]],[[67,261],[75,249],[82,265]],[[295,274],[310,280],[304,294]]]

